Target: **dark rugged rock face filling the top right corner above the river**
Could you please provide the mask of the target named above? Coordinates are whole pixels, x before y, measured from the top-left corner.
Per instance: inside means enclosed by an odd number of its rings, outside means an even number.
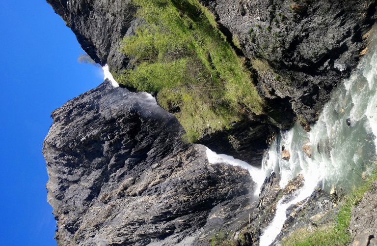
[[[291,100],[307,123],[316,121],[331,89],[355,68],[376,20],[375,0],[199,1],[229,42],[273,67],[258,75],[260,94]]]

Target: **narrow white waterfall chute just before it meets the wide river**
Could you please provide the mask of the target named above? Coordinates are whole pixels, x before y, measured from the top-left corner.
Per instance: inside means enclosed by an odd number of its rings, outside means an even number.
[[[251,178],[255,183],[257,183],[257,186],[255,188],[255,194],[258,195],[260,192],[260,188],[265,181],[265,175],[260,168],[256,168],[251,166],[245,161],[235,159],[233,156],[226,155],[226,154],[216,154],[215,152],[211,151],[210,149],[207,149],[207,158],[208,162],[211,164],[217,164],[217,163],[224,163],[232,166],[239,166],[249,171]]]

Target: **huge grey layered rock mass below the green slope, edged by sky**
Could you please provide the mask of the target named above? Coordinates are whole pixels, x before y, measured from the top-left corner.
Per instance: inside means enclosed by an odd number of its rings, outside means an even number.
[[[145,92],[107,80],[52,118],[43,154],[59,246],[197,245],[198,229],[250,206],[248,172],[209,164]]]

